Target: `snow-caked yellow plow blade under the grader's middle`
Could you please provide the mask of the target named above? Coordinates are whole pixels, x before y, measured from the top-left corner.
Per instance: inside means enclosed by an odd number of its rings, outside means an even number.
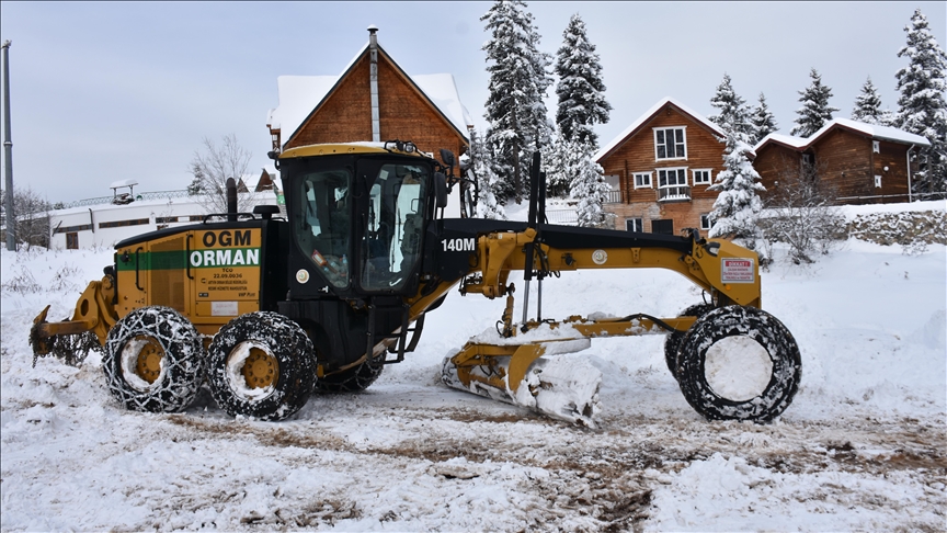
[[[602,372],[584,360],[561,355],[590,344],[590,339],[526,344],[468,342],[444,359],[442,381],[460,390],[595,428]]]

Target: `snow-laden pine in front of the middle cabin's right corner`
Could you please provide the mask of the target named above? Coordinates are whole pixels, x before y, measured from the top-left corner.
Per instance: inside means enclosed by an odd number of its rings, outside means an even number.
[[[723,170],[707,190],[720,191],[710,212],[714,222],[710,237],[727,237],[755,249],[760,236],[756,222],[763,209],[757,191],[766,189],[746,157],[752,148],[739,133],[729,133],[723,150]]]

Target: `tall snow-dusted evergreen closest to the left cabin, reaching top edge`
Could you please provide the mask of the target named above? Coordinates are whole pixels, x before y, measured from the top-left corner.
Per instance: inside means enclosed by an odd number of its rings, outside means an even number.
[[[550,143],[543,101],[552,81],[550,57],[537,49],[539,34],[522,0],[497,0],[480,20],[491,33],[483,45],[490,72],[484,117],[491,170],[499,179],[497,200],[518,203],[528,189],[533,151]]]

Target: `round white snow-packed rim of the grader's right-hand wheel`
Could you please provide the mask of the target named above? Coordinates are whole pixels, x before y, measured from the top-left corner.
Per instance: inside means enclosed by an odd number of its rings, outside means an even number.
[[[704,376],[715,394],[731,401],[762,396],[773,378],[769,352],[748,336],[726,337],[707,349]]]

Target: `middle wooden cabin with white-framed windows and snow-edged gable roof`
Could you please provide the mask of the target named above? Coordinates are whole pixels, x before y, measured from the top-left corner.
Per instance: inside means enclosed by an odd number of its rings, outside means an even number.
[[[707,191],[723,170],[716,124],[665,98],[598,150],[595,160],[616,189],[605,211],[616,229],[680,235],[684,228],[710,229],[717,200]]]

